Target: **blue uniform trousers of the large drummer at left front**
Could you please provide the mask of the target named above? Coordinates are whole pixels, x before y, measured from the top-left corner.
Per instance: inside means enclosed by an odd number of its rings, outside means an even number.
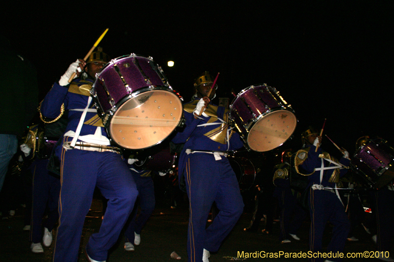
[[[54,262],[75,262],[85,216],[97,186],[108,199],[98,233],[91,235],[86,252],[96,261],[105,261],[116,243],[138,195],[130,170],[119,154],[113,152],[65,150],[58,147],[61,161],[59,228]]]

